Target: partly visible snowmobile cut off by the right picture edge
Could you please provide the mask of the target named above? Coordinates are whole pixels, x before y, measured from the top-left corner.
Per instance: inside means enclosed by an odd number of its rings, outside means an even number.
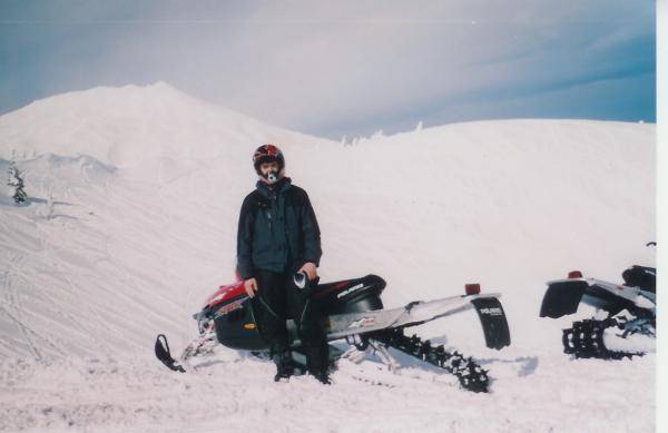
[[[572,270],[567,279],[547,283],[540,317],[574,314],[580,303],[584,303],[607,316],[577,321],[563,329],[566,354],[602,360],[642,356],[645,352],[632,350],[630,341],[633,335],[656,338],[656,275],[654,267],[631,266],[621,274],[623,284],[615,284],[584,278],[581,272]]]

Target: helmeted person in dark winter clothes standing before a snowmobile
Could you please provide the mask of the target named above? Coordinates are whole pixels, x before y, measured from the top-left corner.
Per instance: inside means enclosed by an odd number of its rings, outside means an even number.
[[[274,145],[255,150],[256,189],[242,205],[237,232],[237,270],[261,333],[276,363],[275,381],[294,373],[285,322],[292,315],[306,354],[308,373],[330,383],[328,351],[320,312],[293,275],[305,273],[316,283],[322,256],[315,213],[306,191],[285,177],[285,158]]]

